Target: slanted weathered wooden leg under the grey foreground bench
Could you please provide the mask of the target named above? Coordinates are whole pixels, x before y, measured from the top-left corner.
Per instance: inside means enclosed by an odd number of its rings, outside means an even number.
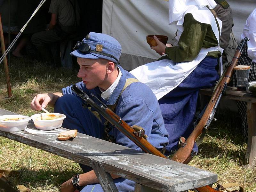
[[[94,172],[99,180],[99,183],[100,183],[103,191],[104,192],[118,192],[110,173],[105,172],[100,161],[92,160],[91,165],[92,165],[92,169],[94,170]]]

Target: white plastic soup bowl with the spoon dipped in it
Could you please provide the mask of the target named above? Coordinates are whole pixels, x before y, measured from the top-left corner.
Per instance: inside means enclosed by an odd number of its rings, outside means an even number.
[[[60,117],[57,119],[51,119],[51,120],[40,119],[41,116],[47,116],[49,114],[54,114]],[[66,116],[61,113],[38,113],[31,116],[31,119],[33,119],[36,128],[39,130],[46,130],[46,131],[60,128],[63,123],[63,119],[65,118]]]

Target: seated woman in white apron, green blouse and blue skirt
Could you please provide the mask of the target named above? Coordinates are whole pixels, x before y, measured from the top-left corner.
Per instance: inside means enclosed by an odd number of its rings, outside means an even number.
[[[157,46],[151,49],[166,55],[131,71],[158,99],[169,133],[166,155],[177,149],[180,136],[187,138],[194,129],[198,90],[219,79],[215,67],[221,56],[221,21],[210,10],[215,6],[213,0],[169,0],[169,24],[178,28],[178,46],[167,47],[155,37]]]

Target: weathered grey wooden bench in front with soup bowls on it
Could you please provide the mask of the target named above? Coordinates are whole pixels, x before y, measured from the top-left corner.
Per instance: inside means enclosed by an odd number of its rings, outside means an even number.
[[[10,114],[15,113],[0,109],[0,115]],[[28,128],[35,129],[33,121],[29,121]],[[109,173],[135,181],[136,192],[179,192],[206,186],[218,179],[215,173],[82,133],[67,141],[57,140],[56,135],[33,135],[26,131],[0,131],[0,136],[91,166],[104,191],[117,191]]]

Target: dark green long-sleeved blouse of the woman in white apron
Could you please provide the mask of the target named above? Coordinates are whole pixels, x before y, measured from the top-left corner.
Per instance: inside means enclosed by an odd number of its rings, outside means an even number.
[[[166,47],[166,55],[158,60],[170,59],[174,62],[193,61],[201,48],[210,48],[218,45],[212,26],[210,24],[200,23],[194,19],[191,13],[184,17],[184,30],[180,36],[177,47]],[[208,52],[207,56],[219,58],[219,51]]]

